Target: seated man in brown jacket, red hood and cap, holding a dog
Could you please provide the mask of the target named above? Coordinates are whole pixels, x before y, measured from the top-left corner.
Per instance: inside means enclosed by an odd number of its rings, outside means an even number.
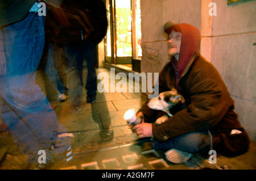
[[[171,61],[159,73],[159,93],[175,87],[184,96],[186,107],[158,125],[155,120],[164,112],[145,103],[137,113],[144,122],[133,131],[139,138],[153,137],[153,148],[168,150],[166,158],[173,163],[209,151],[211,142],[217,154],[247,151],[249,136],[234,112],[234,101],[218,71],[199,53],[198,28],[167,22],[164,31]]]

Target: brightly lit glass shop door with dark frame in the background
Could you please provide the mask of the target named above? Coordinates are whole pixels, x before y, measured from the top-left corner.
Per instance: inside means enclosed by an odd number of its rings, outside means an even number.
[[[140,60],[142,56],[140,1],[109,0],[106,8],[109,20],[105,37],[106,62],[132,66],[134,59]]]

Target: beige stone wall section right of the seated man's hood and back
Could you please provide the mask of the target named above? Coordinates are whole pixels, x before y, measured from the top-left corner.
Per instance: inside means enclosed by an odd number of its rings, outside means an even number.
[[[213,2],[217,15],[211,16],[208,22],[203,18],[201,21],[202,39],[210,39],[208,43],[202,41],[201,46],[211,48],[201,53],[210,56],[234,99],[242,126],[251,140],[256,141],[256,1],[231,5],[222,0]],[[201,6],[201,10],[207,11],[205,6]]]

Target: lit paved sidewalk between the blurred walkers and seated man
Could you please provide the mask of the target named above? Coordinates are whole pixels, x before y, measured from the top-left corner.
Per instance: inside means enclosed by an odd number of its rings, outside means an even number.
[[[97,69],[97,71],[98,73],[107,73],[110,78],[109,69]],[[98,80],[98,82],[100,81]],[[115,82],[109,83],[115,84],[118,81],[117,79]],[[71,81],[72,83],[74,82]],[[46,91],[48,85],[44,85],[40,71],[38,72],[38,84],[43,91]],[[75,90],[74,87],[73,89]],[[193,170],[204,167],[214,168],[205,162],[205,158],[201,155],[193,155],[183,164],[172,164],[164,159],[163,151],[151,148],[150,140],[138,140],[138,137],[127,127],[123,115],[130,108],[139,108],[147,99],[146,94],[135,91],[98,93],[94,104],[86,103],[85,90],[82,90],[82,94],[80,111],[73,106],[72,95],[65,102],[52,102],[57,105],[55,112],[59,122],[74,137],[71,138],[72,161],[67,163],[62,158],[56,159],[49,169]],[[102,141],[100,131],[108,126],[112,127],[114,136],[109,141]],[[2,155],[0,169],[25,169],[26,158],[19,154],[11,137],[6,137],[1,133],[0,141],[0,159]],[[255,170],[255,154],[256,145],[252,142],[247,153],[235,158],[220,156],[217,158],[217,165],[226,165],[230,170]]]

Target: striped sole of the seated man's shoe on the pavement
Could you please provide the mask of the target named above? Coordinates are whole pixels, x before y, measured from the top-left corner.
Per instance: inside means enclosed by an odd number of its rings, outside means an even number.
[[[188,159],[193,155],[192,153],[176,149],[168,150],[165,154],[166,159],[172,163],[183,163],[188,161]]]

